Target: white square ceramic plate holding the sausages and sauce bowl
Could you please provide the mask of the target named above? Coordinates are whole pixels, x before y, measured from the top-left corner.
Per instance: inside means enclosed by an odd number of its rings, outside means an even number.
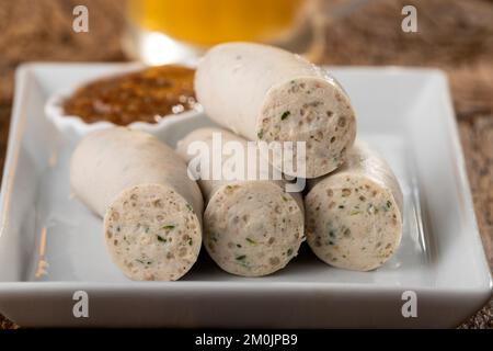
[[[1,192],[0,310],[21,326],[455,327],[491,296],[445,76],[436,70],[333,68],[359,137],[388,159],[405,197],[402,245],[372,272],[322,263],[307,245],[285,270],[246,279],[203,250],[177,282],[131,282],[111,263],[101,219],[70,197],[74,140],[44,116],[55,91],[125,65],[30,64],[16,73]],[[161,138],[174,146],[204,115]],[[72,314],[76,291],[89,318]],[[416,294],[404,318],[402,294]]]

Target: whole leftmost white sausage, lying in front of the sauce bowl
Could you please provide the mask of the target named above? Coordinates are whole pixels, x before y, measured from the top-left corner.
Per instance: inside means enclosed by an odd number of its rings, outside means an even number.
[[[72,191],[104,217],[108,252],[133,280],[176,280],[198,257],[203,200],[186,165],[156,137],[124,127],[83,138]]]

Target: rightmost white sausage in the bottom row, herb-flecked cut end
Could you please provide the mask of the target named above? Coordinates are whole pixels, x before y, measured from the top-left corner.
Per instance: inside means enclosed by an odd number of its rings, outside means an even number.
[[[386,161],[357,141],[346,163],[309,183],[307,241],[324,262],[369,271],[395,252],[402,235],[402,192]]]

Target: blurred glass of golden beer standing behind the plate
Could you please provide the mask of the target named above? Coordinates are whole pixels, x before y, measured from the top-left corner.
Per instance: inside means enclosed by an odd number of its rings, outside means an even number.
[[[211,45],[286,41],[308,0],[128,0],[126,52],[150,65],[193,60]]]

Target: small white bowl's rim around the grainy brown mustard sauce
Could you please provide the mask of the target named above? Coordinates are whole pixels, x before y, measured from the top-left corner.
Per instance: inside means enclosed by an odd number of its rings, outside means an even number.
[[[128,73],[131,71],[144,69],[142,66],[129,66],[127,68],[122,69],[117,72],[111,72],[108,75],[102,75],[96,78],[108,78],[123,73]],[[89,80],[93,81],[93,79]],[[87,81],[87,82],[89,82]],[[49,97],[45,104],[45,115],[46,117],[56,126],[56,128],[68,139],[78,140],[84,135],[101,131],[110,127],[116,126],[114,123],[107,121],[99,121],[94,123],[88,123],[83,121],[80,116],[69,115],[65,112],[64,103],[66,99],[72,95],[72,93],[77,90],[77,88],[82,87],[87,82],[78,84],[71,88],[64,88],[56,91],[54,94]],[[188,110],[177,114],[169,114],[163,116],[157,123],[147,123],[147,122],[133,122],[127,126],[129,128],[135,128],[138,131],[142,131],[156,136],[160,136],[162,132],[170,125],[175,123],[179,120],[188,120],[203,111],[202,106],[197,103],[193,110]]]

